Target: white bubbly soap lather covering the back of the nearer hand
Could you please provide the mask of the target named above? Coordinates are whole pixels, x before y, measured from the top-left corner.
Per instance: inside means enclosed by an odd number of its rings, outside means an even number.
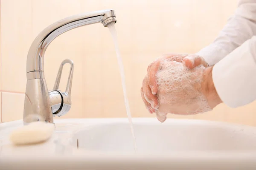
[[[157,94],[160,106],[158,112],[172,113],[182,108],[184,114],[197,114],[212,110],[204,94],[198,91],[201,88],[201,70],[204,67],[184,68],[182,59],[183,57],[177,56],[160,62],[159,68],[163,69],[158,69],[156,74],[160,91]]]

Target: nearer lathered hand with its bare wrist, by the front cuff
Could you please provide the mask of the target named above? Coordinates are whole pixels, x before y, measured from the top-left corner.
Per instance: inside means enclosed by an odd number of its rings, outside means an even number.
[[[211,71],[212,67],[199,65],[189,69],[172,59],[161,60],[156,74],[159,121],[164,122],[167,113],[204,113],[218,105],[221,100],[215,91]]]

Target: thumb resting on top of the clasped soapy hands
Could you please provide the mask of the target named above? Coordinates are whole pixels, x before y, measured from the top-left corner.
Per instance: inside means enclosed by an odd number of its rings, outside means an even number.
[[[204,67],[209,67],[208,63],[204,60],[204,58],[196,54],[191,54],[183,58],[182,63],[184,67],[187,68],[195,68],[198,65],[204,65]]]

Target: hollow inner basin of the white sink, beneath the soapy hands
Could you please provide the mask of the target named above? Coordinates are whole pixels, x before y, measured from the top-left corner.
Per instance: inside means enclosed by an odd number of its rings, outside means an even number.
[[[152,119],[134,121],[140,153],[172,151],[256,150],[256,128],[193,120],[172,120],[161,124]],[[103,123],[75,134],[79,148],[102,152],[134,152],[131,129],[126,121]]]

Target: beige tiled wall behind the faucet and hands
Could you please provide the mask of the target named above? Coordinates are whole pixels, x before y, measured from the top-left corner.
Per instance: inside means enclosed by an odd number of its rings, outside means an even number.
[[[22,119],[26,55],[35,37],[55,21],[81,12],[114,8],[133,117],[152,117],[140,99],[150,62],[163,53],[195,53],[218,35],[235,0],[1,0],[2,122]],[[62,60],[75,63],[72,108],[62,118],[126,117],[116,55],[108,28],[76,28],[49,45],[44,66],[52,88]],[[64,90],[68,67],[61,79]],[[256,102],[237,109],[169,118],[210,119],[256,125]],[[59,119],[59,118],[56,118]]]

